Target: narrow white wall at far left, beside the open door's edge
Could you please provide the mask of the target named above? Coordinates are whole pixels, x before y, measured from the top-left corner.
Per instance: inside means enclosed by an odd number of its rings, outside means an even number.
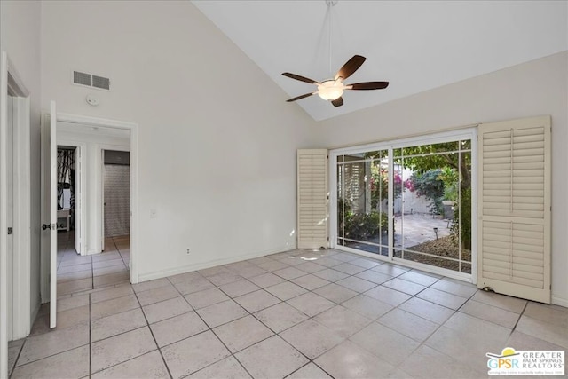
[[[32,319],[40,304],[40,23],[40,2],[0,1],[0,51],[6,51],[30,94]]]

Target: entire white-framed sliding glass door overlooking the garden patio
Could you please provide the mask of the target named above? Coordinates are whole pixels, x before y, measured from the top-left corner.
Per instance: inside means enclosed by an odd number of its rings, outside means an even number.
[[[473,133],[332,151],[335,248],[470,274]]]

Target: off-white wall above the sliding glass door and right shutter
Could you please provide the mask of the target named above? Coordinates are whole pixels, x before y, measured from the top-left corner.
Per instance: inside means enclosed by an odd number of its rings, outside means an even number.
[[[567,67],[568,52],[564,51],[319,122],[319,146],[356,146],[462,125],[550,114],[552,301],[568,306]]]

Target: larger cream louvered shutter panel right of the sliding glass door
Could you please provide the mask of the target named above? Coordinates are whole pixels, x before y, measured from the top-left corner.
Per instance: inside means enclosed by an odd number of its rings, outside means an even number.
[[[478,287],[550,303],[550,117],[478,129]]]

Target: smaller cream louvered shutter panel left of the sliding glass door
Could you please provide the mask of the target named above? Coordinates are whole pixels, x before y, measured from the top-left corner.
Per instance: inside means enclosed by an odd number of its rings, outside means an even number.
[[[327,248],[327,150],[298,150],[297,163],[298,249]]]

